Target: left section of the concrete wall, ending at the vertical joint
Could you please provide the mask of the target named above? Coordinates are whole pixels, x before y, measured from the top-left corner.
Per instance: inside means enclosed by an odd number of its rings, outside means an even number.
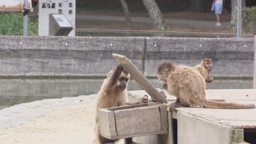
[[[126,55],[142,70],[144,38],[0,36],[1,76],[105,76]]]

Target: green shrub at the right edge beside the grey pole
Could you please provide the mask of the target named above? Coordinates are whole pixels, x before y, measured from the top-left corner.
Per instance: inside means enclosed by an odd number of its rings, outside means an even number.
[[[256,34],[256,6],[246,8],[242,10],[242,13],[246,17],[247,30],[251,30],[252,34]]]

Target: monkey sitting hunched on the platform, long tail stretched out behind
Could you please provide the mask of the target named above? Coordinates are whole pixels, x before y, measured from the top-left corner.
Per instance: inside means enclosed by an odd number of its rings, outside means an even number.
[[[177,107],[200,107],[212,109],[250,109],[254,104],[220,102],[207,100],[203,76],[189,66],[174,65],[164,62],[157,70],[158,79],[163,81],[163,88],[170,95],[176,96],[174,103],[167,106],[168,111],[176,111]]]

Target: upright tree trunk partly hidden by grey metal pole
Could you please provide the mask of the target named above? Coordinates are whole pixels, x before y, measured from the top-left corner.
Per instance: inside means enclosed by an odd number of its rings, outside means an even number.
[[[237,30],[237,1],[238,0],[232,0],[232,7],[231,7],[231,21],[230,21],[230,30],[236,31]],[[242,1],[242,9],[245,7],[245,0],[241,0]],[[246,22],[245,22],[245,15],[241,15],[241,26],[242,28],[245,28],[247,26]]]

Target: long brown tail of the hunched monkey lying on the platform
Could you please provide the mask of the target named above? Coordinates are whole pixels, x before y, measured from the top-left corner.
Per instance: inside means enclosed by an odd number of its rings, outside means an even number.
[[[235,102],[220,102],[220,101],[205,100],[203,107],[212,108],[212,109],[252,109],[252,108],[255,108],[255,105],[241,104],[241,103],[235,103]]]

